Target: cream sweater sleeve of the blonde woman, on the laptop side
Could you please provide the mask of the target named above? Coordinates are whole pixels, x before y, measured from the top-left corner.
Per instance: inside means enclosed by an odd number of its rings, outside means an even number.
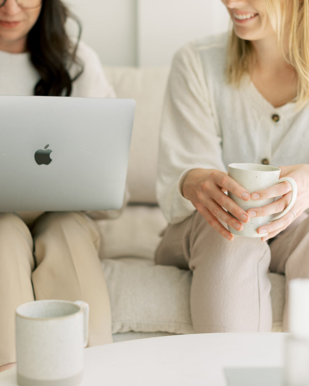
[[[170,223],[195,210],[181,194],[183,179],[195,168],[226,171],[202,63],[190,43],[173,59],[161,119],[156,193]]]

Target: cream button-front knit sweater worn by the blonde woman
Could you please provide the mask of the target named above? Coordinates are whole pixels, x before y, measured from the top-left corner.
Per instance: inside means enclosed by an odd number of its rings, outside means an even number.
[[[160,131],[157,196],[166,219],[177,223],[195,208],[180,193],[188,170],[227,170],[229,163],[284,166],[309,163],[309,107],[274,108],[249,76],[239,88],[225,76],[227,35],[180,49],[168,81]],[[277,114],[275,122],[272,116]]]

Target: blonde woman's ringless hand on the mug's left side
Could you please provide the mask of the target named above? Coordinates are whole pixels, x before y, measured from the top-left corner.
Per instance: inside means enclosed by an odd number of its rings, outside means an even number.
[[[250,193],[246,189],[229,177],[227,173],[216,169],[192,169],[182,185],[183,196],[192,202],[209,225],[223,237],[232,241],[234,239],[233,234],[219,220],[236,230],[242,230],[243,223],[249,222],[250,217],[224,193],[227,191],[244,201],[250,200]]]

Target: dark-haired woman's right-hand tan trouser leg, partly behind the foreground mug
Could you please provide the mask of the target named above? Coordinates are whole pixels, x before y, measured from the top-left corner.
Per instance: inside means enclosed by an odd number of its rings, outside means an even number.
[[[80,212],[44,213],[32,234],[36,299],[86,301],[90,308],[88,345],[111,343],[110,303],[98,258],[96,223]]]

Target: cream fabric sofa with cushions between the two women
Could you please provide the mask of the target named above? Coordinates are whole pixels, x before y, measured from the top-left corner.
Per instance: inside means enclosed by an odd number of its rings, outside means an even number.
[[[156,266],[154,252],[167,222],[155,195],[158,132],[169,68],[108,67],[117,97],[136,100],[127,185],[129,205],[120,217],[97,220],[100,259],[112,309],[114,342],[193,333],[191,271]],[[269,273],[273,332],[282,328],[285,277]]]

